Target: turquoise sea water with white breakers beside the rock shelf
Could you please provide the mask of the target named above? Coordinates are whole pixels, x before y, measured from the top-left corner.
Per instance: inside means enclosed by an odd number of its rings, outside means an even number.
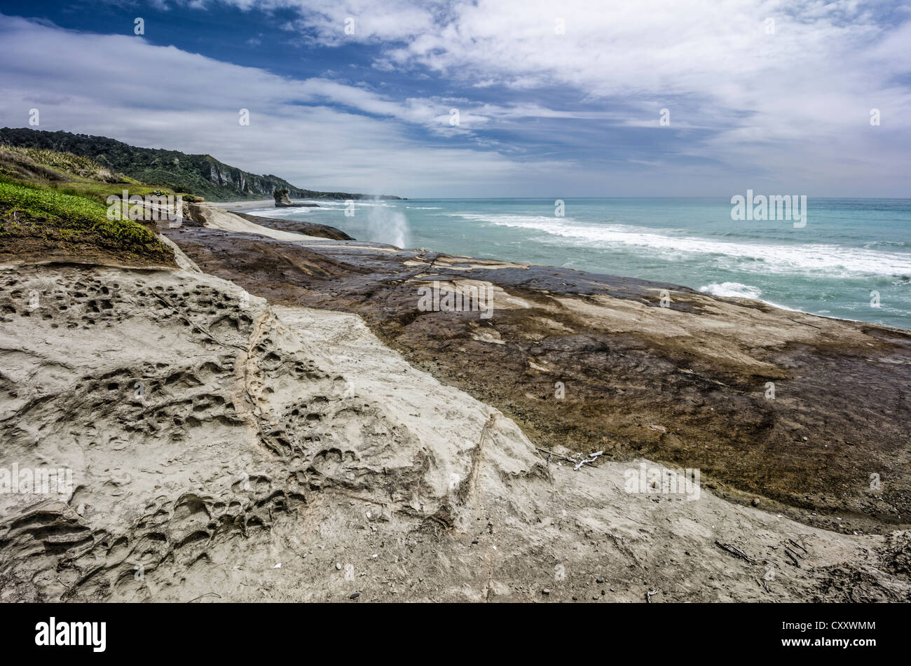
[[[759,193],[757,193],[759,194]],[[359,240],[672,282],[911,328],[911,199],[807,202],[806,226],[734,221],[730,198],[409,199],[268,208]],[[879,307],[871,305],[878,292]]]

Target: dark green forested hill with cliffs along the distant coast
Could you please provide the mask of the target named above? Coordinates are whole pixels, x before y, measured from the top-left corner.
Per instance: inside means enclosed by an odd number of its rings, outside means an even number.
[[[178,150],[139,148],[105,136],[44,132],[27,127],[4,127],[0,129],[0,144],[39,151],[71,153],[73,156],[87,158],[93,164],[111,172],[116,170],[126,174],[137,181],[155,183],[176,192],[189,192],[213,201],[268,198],[275,189],[287,189],[292,198],[369,198],[368,195],[348,192],[301,189],[293,187],[288,181],[277,176],[247,173],[210,155],[188,155]]]

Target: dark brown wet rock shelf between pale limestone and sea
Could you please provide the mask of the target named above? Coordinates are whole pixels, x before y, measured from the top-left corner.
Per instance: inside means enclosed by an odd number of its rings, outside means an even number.
[[[271,302],[359,314],[405,358],[502,409],[543,448],[701,469],[729,499],[826,529],[911,523],[907,331],[381,244],[288,245],[189,226],[170,237],[204,270]],[[417,290],[434,281],[493,285],[496,314],[419,311]]]

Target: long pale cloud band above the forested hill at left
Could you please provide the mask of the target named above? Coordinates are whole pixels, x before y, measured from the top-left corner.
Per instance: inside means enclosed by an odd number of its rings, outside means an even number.
[[[87,35],[0,16],[0,39],[0,122],[9,126],[26,126],[29,108],[37,106],[39,129],[210,153],[301,187],[412,197],[469,196],[479,183],[495,196],[524,174],[543,177],[568,166],[428,146],[399,122],[432,121],[435,110],[427,103],[395,104],[322,79],[292,81],[139,37]],[[388,117],[331,108],[322,99]],[[241,108],[250,110],[250,126],[239,124]]]

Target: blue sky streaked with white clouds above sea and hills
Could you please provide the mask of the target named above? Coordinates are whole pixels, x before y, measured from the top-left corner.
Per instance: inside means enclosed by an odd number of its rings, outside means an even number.
[[[0,0],[32,109],[312,189],[911,197],[911,5]]]

